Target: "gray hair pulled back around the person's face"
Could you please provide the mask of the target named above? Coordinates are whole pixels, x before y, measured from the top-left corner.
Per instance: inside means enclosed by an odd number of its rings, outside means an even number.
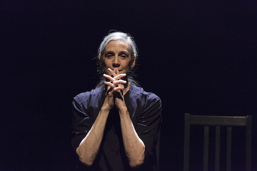
[[[102,62],[103,62],[103,58],[100,58],[99,59],[99,55],[103,56],[104,55],[104,50],[105,50],[105,47],[106,45],[111,42],[111,41],[115,41],[115,40],[123,40],[125,41],[128,45],[130,45],[130,48],[131,48],[131,58],[134,59],[136,56],[136,61],[137,61],[137,58],[138,58],[138,48],[137,48],[137,45],[135,43],[135,40],[134,40],[134,37],[132,37],[130,34],[128,33],[123,33],[123,32],[120,32],[120,31],[116,31],[116,32],[111,32],[109,33],[108,35],[106,35],[102,41],[102,43],[100,44],[99,48],[98,48],[98,53],[97,53],[97,60],[98,60],[98,73],[99,73],[99,76],[100,76],[100,81],[99,83],[97,84],[96,88],[100,87],[101,85],[104,84],[104,81],[105,79],[103,78],[103,73],[104,73],[104,69],[103,65],[100,65]],[[132,60],[131,59],[131,60]],[[135,65],[136,67],[136,65]],[[135,67],[133,68],[130,68],[130,70],[128,70],[127,72],[127,79],[130,83],[134,84],[134,85],[137,85],[139,86],[139,82],[137,82],[136,80],[134,80],[134,77],[136,77],[136,74],[135,74]]]

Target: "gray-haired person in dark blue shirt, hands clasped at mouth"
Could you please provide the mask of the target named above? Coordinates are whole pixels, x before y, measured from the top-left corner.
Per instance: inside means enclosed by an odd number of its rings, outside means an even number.
[[[72,101],[77,170],[158,170],[161,100],[133,79],[137,56],[128,33],[109,33],[100,44],[101,81]]]

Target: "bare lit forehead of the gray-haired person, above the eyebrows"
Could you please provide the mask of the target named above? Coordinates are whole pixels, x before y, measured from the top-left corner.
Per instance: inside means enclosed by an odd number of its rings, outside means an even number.
[[[125,41],[123,40],[114,40],[109,42],[106,46],[105,46],[105,51],[130,51],[130,45],[128,45]]]

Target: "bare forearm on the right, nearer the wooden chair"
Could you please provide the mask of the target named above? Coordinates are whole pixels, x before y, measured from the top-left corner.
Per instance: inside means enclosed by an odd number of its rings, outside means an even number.
[[[127,109],[120,110],[120,123],[123,144],[130,166],[139,166],[144,162],[145,146],[137,135]]]

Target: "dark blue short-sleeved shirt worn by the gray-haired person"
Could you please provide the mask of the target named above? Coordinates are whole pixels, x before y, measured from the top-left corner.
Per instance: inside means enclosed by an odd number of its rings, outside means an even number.
[[[72,102],[72,146],[74,150],[93,125],[105,99],[104,85],[78,94]],[[145,145],[145,159],[138,170],[158,170],[156,144],[159,141],[161,100],[156,94],[145,92],[131,84],[124,95],[127,110],[139,138]],[[137,170],[133,169],[133,170]],[[119,112],[109,112],[104,136],[97,158],[91,167],[79,164],[78,170],[131,170],[122,141]]]

